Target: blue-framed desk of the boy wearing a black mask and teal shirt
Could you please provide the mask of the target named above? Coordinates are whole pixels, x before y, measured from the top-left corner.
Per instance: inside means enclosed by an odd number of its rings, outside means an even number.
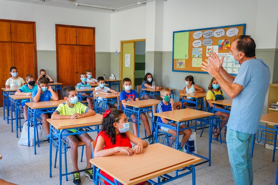
[[[16,137],[18,137],[18,127],[19,131],[21,132],[21,120],[20,120],[20,113],[22,111],[21,107],[21,101],[22,100],[28,100],[27,102],[30,102],[30,98],[32,98],[32,95],[9,95],[9,98],[11,99],[11,111],[15,112],[15,119],[16,119]],[[19,126],[18,126],[18,120],[19,120]],[[12,125],[12,132],[13,132],[13,114],[11,115],[11,125]]]

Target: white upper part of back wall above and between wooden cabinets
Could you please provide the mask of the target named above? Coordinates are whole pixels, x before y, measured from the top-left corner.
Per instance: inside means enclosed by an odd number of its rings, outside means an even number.
[[[37,50],[56,50],[55,24],[68,24],[95,27],[96,52],[110,51],[110,14],[0,0],[0,17],[35,21]]]

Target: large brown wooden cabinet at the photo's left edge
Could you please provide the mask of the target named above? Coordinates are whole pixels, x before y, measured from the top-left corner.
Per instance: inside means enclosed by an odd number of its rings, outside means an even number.
[[[25,79],[26,74],[37,78],[36,23],[0,19],[0,86],[5,87],[11,77],[9,69],[15,66],[18,76]],[[3,95],[0,94],[0,106]]]

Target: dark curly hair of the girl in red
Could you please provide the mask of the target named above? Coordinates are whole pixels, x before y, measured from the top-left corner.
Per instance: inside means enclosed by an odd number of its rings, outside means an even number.
[[[119,122],[121,115],[124,114],[122,110],[112,110],[108,116],[102,119],[101,131],[106,131],[106,135],[111,138],[113,144],[116,143],[116,129],[114,127],[114,122]],[[121,133],[122,138],[126,138],[125,133]]]

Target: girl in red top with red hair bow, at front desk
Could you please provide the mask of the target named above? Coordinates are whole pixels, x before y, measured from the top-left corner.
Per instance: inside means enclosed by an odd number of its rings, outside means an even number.
[[[135,135],[129,130],[129,122],[126,115],[121,110],[106,110],[103,114],[101,131],[96,137],[96,147],[94,157],[110,156],[117,152],[126,152],[128,156],[132,154],[141,154],[143,147],[148,146],[148,143]],[[131,149],[131,143],[136,144],[134,149]],[[114,182],[114,178],[103,171],[100,173]],[[109,184],[108,182],[104,182]],[[150,184],[145,181],[140,184]]]

